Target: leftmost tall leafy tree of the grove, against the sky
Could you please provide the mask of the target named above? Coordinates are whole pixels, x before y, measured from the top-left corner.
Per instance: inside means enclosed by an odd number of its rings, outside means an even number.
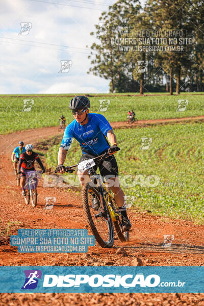
[[[109,7],[109,12],[103,12],[99,18],[104,23],[105,31],[101,30],[101,25],[96,24],[96,35],[99,43],[93,43],[92,52],[89,58],[92,58],[88,73],[99,75],[111,81],[111,92],[114,91],[115,85],[122,84],[123,79],[129,74],[130,63],[124,59],[123,52],[115,43],[116,39],[121,36],[121,31],[131,16],[134,16],[141,9],[138,0],[118,0],[113,6]]]

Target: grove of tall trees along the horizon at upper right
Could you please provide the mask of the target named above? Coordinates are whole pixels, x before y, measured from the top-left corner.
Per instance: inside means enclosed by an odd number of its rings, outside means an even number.
[[[167,34],[158,49],[157,33]],[[172,49],[169,33],[179,33]],[[87,73],[110,80],[111,92],[204,91],[204,0],[147,0],[143,8],[139,0],[118,0],[90,34],[96,42]],[[140,43],[155,49],[139,50]]]

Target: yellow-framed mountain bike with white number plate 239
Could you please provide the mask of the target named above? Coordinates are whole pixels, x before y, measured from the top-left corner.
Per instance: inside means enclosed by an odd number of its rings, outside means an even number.
[[[90,231],[95,236],[97,243],[101,247],[110,248],[114,244],[114,228],[122,242],[129,241],[129,231],[123,232],[122,230],[121,213],[105,178],[92,168],[108,156],[106,152],[77,165],[65,167],[65,172],[72,173],[77,170],[75,168],[82,169],[82,171],[88,170],[91,181],[85,183],[82,188],[83,209]]]

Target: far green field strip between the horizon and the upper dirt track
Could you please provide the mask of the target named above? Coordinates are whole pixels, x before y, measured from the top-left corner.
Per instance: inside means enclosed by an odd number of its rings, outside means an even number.
[[[0,133],[11,133],[22,129],[59,124],[58,118],[63,114],[67,124],[73,120],[69,110],[70,97],[49,96],[33,97],[30,108],[23,109],[23,99],[28,97],[0,96]],[[99,111],[100,99],[109,99],[106,112]],[[186,110],[177,111],[177,99],[188,99]],[[203,114],[204,95],[181,94],[179,96],[115,96],[98,95],[90,97],[90,112],[103,114],[109,121],[125,121],[127,111],[133,109],[136,117],[141,119],[180,118],[200,116]]]

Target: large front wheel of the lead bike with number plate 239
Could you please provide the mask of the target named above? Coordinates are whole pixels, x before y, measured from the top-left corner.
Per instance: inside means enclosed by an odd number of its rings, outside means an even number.
[[[114,244],[113,222],[107,208],[104,211],[99,192],[89,183],[82,188],[82,203],[91,233],[101,247],[112,247]]]

